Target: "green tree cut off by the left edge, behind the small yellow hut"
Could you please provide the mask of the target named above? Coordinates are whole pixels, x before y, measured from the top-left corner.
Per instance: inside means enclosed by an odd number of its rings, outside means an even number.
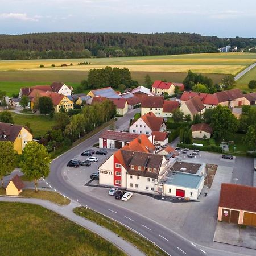
[[[18,153],[10,141],[0,141],[0,176],[3,187],[3,176],[9,175],[16,167]]]

